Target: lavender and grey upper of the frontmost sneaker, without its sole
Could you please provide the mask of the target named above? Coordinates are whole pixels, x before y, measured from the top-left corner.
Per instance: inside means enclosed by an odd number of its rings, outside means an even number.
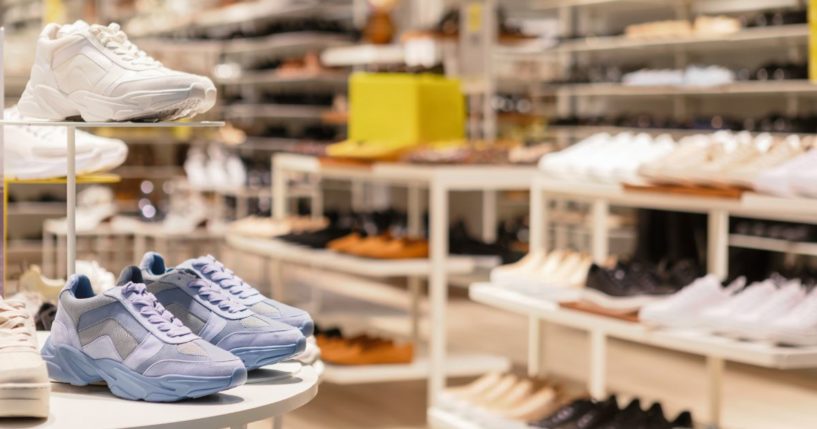
[[[238,357],[193,334],[145,285],[128,283],[94,295],[82,275],[72,276],[60,293],[50,341],[148,377],[230,376],[241,367]]]

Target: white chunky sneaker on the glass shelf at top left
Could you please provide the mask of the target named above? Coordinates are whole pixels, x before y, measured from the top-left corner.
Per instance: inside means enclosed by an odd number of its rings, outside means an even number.
[[[210,79],[164,67],[118,24],[77,21],[43,29],[19,108],[48,120],[176,120],[204,113],[215,101]]]

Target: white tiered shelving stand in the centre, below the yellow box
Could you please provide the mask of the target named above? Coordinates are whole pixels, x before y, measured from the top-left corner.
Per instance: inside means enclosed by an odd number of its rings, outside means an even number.
[[[367,278],[408,278],[411,295],[412,336],[419,338],[419,302],[422,279],[429,281],[430,314],[428,354],[416,356],[406,365],[370,365],[361,367],[333,367],[327,365],[324,379],[342,384],[429,380],[429,395],[433,397],[445,386],[447,376],[471,376],[510,368],[510,361],[491,355],[452,355],[446,353],[446,308],[449,276],[472,272],[482,258],[451,256],[448,254],[449,194],[460,191],[482,191],[483,238],[492,239],[497,223],[497,191],[527,190],[534,169],[513,166],[423,166],[411,164],[374,163],[368,166],[322,165],[320,160],[301,155],[278,154],[273,157],[273,215],[284,219],[289,210],[291,175],[307,174],[319,180],[351,182],[353,189],[362,184],[380,184],[405,187],[408,190],[408,230],[412,235],[421,233],[422,216],[426,203],[422,195],[428,190],[430,257],[415,260],[376,260],[342,255],[326,250],[294,246],[274,239],[247,239],[228,237],[228,244],[241,251],[267,257],[273,271],[280,273],[283,263],[300,264],[311,268],[354,274]],[[353,205],[361,208],[358,196]],[[323,211],[320,193],[312,196],[312,214]],[[271,275],[280,278],[280,274]],[[273,288],[280,286],[273,285]],[[363,317],[364,315],[360,315]]]

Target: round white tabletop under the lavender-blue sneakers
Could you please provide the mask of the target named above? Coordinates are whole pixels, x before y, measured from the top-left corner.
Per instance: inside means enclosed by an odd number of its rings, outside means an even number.
[[[45,335],[38,335],[44,341]],[[0,428],[245,428],[306,405],[318,393],[311,366],[285,362],[249,375],[243,386],[199,399],[153,403],[120,399],[106,386],[51,384],[48,419],[0,419]]]

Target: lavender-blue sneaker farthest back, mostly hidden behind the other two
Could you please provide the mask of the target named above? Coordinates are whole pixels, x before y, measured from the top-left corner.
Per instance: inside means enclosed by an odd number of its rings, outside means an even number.
[[[149,255],[145,255],[145,259],[142,260],[142,267],[144,269],[153,269],[151,266],[156,264],[156,269],[162,269],[164,263],[161,259],[157,260]],[[184,264],[227,291],[234,299],[249,307],[254,313],[296,327],[306,337],[313,334],[315,323],[309,313],[261,295],[261,292],[247,284],[230,269],[224,267],[224,264],[216,260],[216,258],[202,256],[197,259],[190,259]]]

